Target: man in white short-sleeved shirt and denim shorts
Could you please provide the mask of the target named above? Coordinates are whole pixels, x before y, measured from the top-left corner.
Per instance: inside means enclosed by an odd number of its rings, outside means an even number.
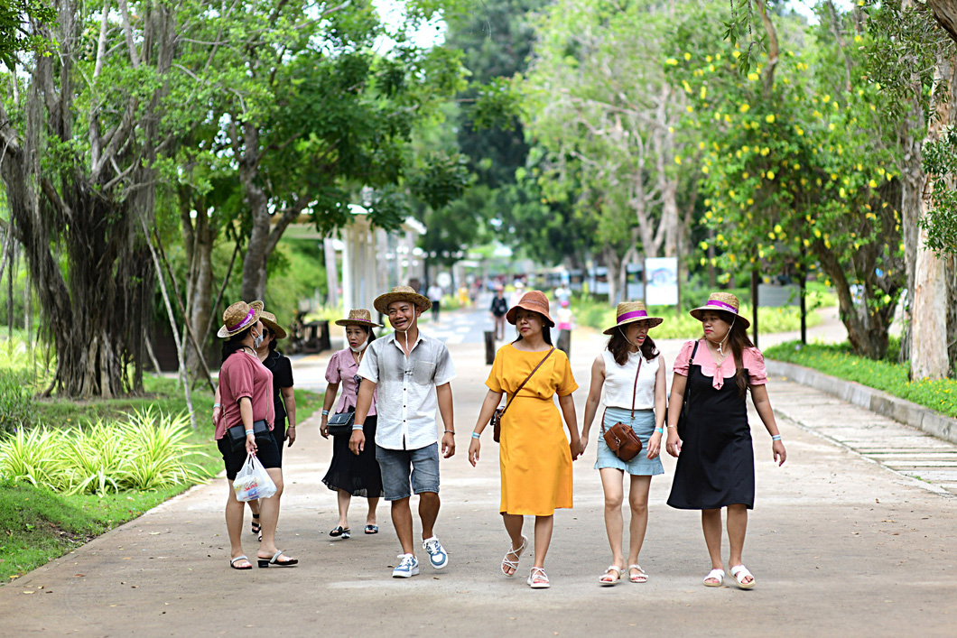
[[[456,453],[450,384],[456,378],[456,368],[445,343],[418,329],[418,319],[429,305],[428,298],[409,286],[398,286],[375,299],[375,309],[389,316],[395,332],[370,343],[359,365],[363,383],[349,440],[354,454],[366,449],[363,428],[378,390],[375,458],[386,500],[392,504],[392,525],[402,545],[399,564],[392,571],[395,578],[410,578],[419,572],[412,544],[412,494],[419,496],[422,548],[429,554],[429,562],[435,569],[449,563],[434,534],[440,504],[435,409],[445,425],[442,455],[449,458]]]

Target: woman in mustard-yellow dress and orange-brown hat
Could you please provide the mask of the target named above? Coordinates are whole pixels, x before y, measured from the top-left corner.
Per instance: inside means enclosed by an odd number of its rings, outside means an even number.
[[[506,404],[501,418],[499,511],[512,544],[501,561],[501,572],[505,576],[515,575],[528,542],[522,535],[524,517],[533,516],[535,564],[527,583],[533,589],[545,589],[550,586],[545,574],[545,554],[551,542],[555,510],[571,508],[571,462],[582,453],[571,398],[578,385],[571,376],[568,357],[551,344],[549,328],[555,322],[548,316],[548,297],[544,293],[525,293],[505,319],[516,326],[519,338],[503,345],[492,363],[485,382],[488,394],[472,432],[469,462],[474,467],[479,460],[481,432],[499,406],[502,393],[507,393],[515,405]],[[525,379],[527,382],[519,390]],[[555,407],[555,394],[562,414]],[[570,443],[562,431],[563,414]]]

